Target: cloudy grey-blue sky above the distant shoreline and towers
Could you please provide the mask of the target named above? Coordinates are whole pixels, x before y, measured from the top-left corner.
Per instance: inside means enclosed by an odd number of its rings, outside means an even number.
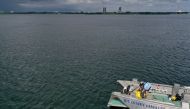
[[[0,11],[188,11],[190,0],[0,0]]]

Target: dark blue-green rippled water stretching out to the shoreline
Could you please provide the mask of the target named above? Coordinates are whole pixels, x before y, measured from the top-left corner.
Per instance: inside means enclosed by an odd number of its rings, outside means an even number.
[[[0,15],[0,109],[107,109],[131,78],[190,85],[190,15]]]

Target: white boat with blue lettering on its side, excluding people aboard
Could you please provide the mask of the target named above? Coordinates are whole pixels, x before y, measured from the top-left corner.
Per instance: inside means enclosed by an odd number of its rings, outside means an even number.
[[[189,109],[190,108],[190,87],[179,84],[166,85],[150,83],[151,88],[146,92],[144,98],[138,98],[136,91],[139,90],[140,82],[137,79],[132,81],[118,80],[123,88],[132,86],[128,93],[112,92],[108,107],[122,109]],[[176,96],[180,99],[176,99]],[[175,100],[173,100],[173,98]]]

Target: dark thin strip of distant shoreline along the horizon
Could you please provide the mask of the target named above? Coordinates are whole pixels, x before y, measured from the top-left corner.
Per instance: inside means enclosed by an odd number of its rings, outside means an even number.
[[[86,15],[168,15],[168,14],[189,14],[189,12],[0,12],[0,14],[86,14]]]

